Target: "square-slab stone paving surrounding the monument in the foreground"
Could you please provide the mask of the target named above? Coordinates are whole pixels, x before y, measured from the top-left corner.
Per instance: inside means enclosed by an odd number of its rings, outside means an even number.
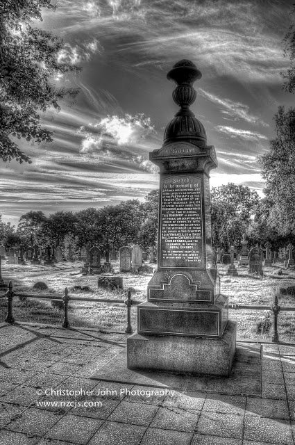
[[[1,445],[294,445],[295,347],[240,343],[228,380],[174,390],[90,379],[125,334],[3,323],[0,345]]]

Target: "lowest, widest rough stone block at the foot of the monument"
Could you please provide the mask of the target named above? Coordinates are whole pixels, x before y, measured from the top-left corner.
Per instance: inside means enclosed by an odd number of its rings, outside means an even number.
[[[127,339],[127,368],[228,377],[235,355],[236,323],[221,339],[140,335]]]

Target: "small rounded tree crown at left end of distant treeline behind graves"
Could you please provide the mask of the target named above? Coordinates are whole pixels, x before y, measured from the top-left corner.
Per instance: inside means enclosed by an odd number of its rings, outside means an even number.
[[[42,224],[46,221],[47,218],[42,211],[29,211],[19,218],[17,233],[25,240],[26,245],[33,246],[41,241],[40,232]]]

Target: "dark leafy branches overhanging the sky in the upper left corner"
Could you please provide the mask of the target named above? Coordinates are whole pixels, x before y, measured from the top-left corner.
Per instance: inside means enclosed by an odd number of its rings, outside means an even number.
[[[56,88],[53,75],[78,72],[80,67],[58,61],[65,48],[55,35],[31,26],[41,8],[53,9],[51,0],[0,0],[0,159],[31,162],[15,138],[51,142],[52,132],[40,125],[39,111],[65,96],[76,97],[78,88]]]

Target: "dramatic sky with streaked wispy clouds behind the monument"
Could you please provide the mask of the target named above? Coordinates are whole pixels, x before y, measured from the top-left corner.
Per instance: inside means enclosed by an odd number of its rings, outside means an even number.
[[[22,145],[31,165],[0,165],[3,220],[143,200],[157,188],[149,152],[177,111],[166,74],[182,58],[203,74],[192,110],[217,150],[211,185],[261,192],[256,156],[269,147],[278,105],[294,103],[280,77],[289,65],[291,7],[290,0],[58,0],[56,12],[44,10],[38,26],[66,42],[59,60],[83,67],[53,83],[81,93],[43,116],[54,143]]]

